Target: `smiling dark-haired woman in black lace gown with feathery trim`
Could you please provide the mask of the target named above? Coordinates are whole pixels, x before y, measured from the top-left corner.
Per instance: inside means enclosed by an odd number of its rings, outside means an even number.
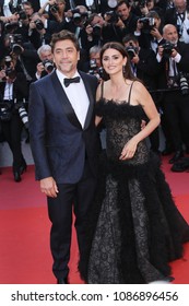
[[[96,122],[103,118],[106,126],[107,156],[101,157],[79,270],[92,284],[169,282],[168,262],[182,256],[189,226],[173,201],[158,157],[146,145],[160,115],[131,75],[119,43],[106,44],[101,57],[110,79],[97,90]],[[141,130],[144,115],[149,123]]]

